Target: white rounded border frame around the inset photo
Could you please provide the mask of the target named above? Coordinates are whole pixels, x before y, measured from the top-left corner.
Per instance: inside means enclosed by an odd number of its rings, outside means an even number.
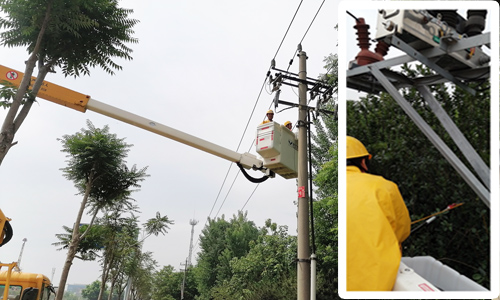
[[[341,76],[346,71],[348,60],[354,59],[354,53],[346,53],[346,26],[347,18],[351,19],[346,13],[349,9],[487,9],[487,22],[491,27],[491,290],[488,292],[348,292],[346,291],[346,181],[345,176],[340,176],[346,169],[346,78]],[[357,16],[362,17],[362,16]],[[351,24],[351,22],[349,23]],[[354,25],[354,22],[352,22]],[[375,24],[370,24],[372,28],[371,36],[374,36]],[[339,28],[339,92],[338,92],[338,143],[339,143],[339,187],[338,187],[338,227],[339,227],[339,264],[338,264],[338,290],[339,295],[344,299],[493,299],[499,296],[500,277],[499,277],[499,236],[500,236],[500,209],[499,209],[499,5],[496,1],[341,1],[338,9],[338,28]],[[351,57],[352,56],[352,57]],[[345,74],[345,73],[343,73]]]

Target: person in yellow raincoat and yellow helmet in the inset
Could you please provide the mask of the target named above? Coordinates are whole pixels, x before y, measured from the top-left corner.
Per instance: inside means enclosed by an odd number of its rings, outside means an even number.
[[[372,155],[347,136],[347,291],[391,291],[410,235],[410,216],[397,185],[369,174]]]

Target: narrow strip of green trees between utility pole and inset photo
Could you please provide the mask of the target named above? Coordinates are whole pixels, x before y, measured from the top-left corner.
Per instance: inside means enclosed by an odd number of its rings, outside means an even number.
[[[337,111],[335,97],[338,87],[337,56],[325,58],[327,72],[323,81],[334,88],[333,97],[326,103]],[[313,202],[314,232],[316,241],[317,299],[339,299],[337,289],[338,248],[338,119],[334,115],[321,115],[314,122],[312,134],[312,167],[315,190]]]

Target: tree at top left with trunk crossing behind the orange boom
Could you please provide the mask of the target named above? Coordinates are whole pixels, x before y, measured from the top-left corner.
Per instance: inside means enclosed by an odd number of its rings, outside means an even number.
[[[114,74],[120,70],[113,58],[132,59],[126,43],[137,43],[129,19],[130,9],[118,7],[118,0],[0,0],[0,45],[26,47],[24,77],[17,91],[6,87],[4,107],[9,111],[0,131],[0,164],[17,142],[14,136],[27,117],[48,72],[61,68],[66,76],[88,75],[101,67]],[[38,64],[33,84],[31,76]]]

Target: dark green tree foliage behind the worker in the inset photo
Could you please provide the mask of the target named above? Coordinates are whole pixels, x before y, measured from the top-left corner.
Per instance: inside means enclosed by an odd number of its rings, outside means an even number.
[[[428,72],[421,66],[403,69],[409,77]],[[475,96],[445,85],[432,86],[431,90],[488,165],[489,82],[470,83],[470,86],[478,91]],[[402,94],[465,162],[415,89],[403,89]],[[488,287],[490,212],[395,101],[386,93],[348,101],[347,134],[360,139],[374,155],[370,166],[372,173],[398,184],[412,220],[440,211],[454,202],[464,203],[411,234],[403,243],[403,255],[433,256]]]

